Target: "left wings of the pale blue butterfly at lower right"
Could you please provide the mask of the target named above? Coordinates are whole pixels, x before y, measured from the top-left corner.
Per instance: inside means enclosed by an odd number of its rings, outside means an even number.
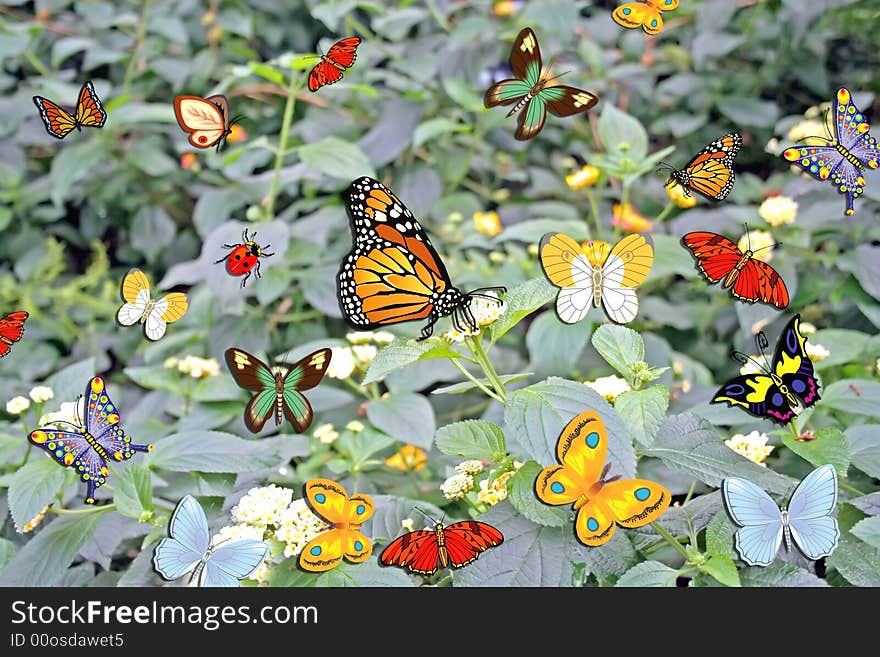
[[[769,566],[782,543],[782,512],[776,502],[750,481],[731,477],[721,484],[727,511],[741,527],[736,551],[750,566]]]

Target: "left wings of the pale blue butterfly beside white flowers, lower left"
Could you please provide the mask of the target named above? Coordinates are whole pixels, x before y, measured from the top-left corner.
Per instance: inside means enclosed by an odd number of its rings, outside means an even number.
[[[186,495],[177,504],[168,533],[170,538],[159,541],[153,551],[153,565],[162,577],[173,580],[198,565],[211,540],[208,519],[192,495]]]

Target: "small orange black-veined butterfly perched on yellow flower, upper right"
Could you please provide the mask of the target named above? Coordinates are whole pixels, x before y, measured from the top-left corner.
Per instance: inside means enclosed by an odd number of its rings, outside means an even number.
[[[668,164],[661,169],[670,170],[666,186],[678,183],[684,193],[697,192],[710,201],[723,201],[733,189],[736,176],[733,173],[733,158],[742,146],[742,137],[735,132],[724,135],[696,154],[683,169],[674,169]]]

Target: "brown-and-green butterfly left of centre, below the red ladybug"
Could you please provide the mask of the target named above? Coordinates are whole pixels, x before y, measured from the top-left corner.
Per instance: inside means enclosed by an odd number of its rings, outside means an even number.
[[[312,406],[303,396],[303,390],[314,388],[324,378],[332,351],[328,348],[313,351],[293,365],[269,367],[243,349],[226,350],[226,365],[235,382],[255,392],[244,409],[244,423],[253,433],[262,431],[268,419],[275,416],[280,426],[286,417],[297,433],[303,433],[312,424]]]

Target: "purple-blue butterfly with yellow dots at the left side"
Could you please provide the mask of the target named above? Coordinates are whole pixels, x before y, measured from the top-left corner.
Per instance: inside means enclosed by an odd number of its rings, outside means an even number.
[[[43,427],[32,431],[30,441],[44,449],[55,461],[75,468],[88,484],[86,503],[95,501],[95,491],[110,471],[111,461],[125,461],[135,452],[151,452],[152,445],[136,445],[119,426],[119,413],[107,394],[104,379],[93,377],[86,385],[85,417],[73,431]]]

